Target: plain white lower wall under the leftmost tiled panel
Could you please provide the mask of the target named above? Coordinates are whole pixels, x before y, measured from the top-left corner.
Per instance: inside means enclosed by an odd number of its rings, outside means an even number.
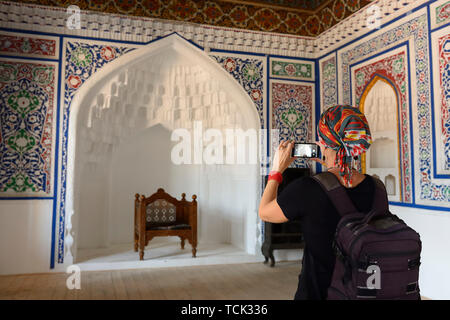
[[[0,201],[0,274],[48,272],[51,200]]]

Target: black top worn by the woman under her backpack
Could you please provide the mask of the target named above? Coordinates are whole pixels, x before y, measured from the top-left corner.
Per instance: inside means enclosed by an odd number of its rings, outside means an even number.
[[[372,207],[375,184],[369,175],[354,188],[345,188],[360,212]],[[323,300],[331,283],[335,264],[332,249],[337,223],[341,216],[319,183],[302,177],[288,184],[278,195],[277,203],[289,220],[301,221],[305,249],[295,300]]]

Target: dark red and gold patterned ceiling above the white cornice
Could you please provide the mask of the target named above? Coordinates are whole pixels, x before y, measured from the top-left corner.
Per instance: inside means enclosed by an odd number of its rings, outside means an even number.
[[[81,10],[207,24],[252,31],[316,37],[368,5],[371,0],[327,0],[316,10],[238,0],[12,0]]]

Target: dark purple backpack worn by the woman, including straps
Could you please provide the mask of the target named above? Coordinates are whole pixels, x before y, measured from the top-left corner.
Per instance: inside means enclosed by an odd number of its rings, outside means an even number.
[[[323,172],[313,178],[341,215],[327,299],[420,300],[420,236],[389,212],[383,182],[372,177],[374,200],[371,211],[364,214],[358,212],[334,174]]]

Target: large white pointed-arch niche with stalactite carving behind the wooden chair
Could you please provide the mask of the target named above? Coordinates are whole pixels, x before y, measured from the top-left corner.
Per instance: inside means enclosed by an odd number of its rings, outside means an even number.
[[[87,238],[104,247],[128,239],[131,250],[134,194],[156,187],[177,198],[197,194],[200,244],[219,236],[257,252],[259,157],[246,165],[168,164],[170,133],[193,134],[195,121],[204,130],[259,133],[244,89],[177,34],[118,58],[83,84],[69,118],[65,263],[74,261],[77,246],[89,246]]]

